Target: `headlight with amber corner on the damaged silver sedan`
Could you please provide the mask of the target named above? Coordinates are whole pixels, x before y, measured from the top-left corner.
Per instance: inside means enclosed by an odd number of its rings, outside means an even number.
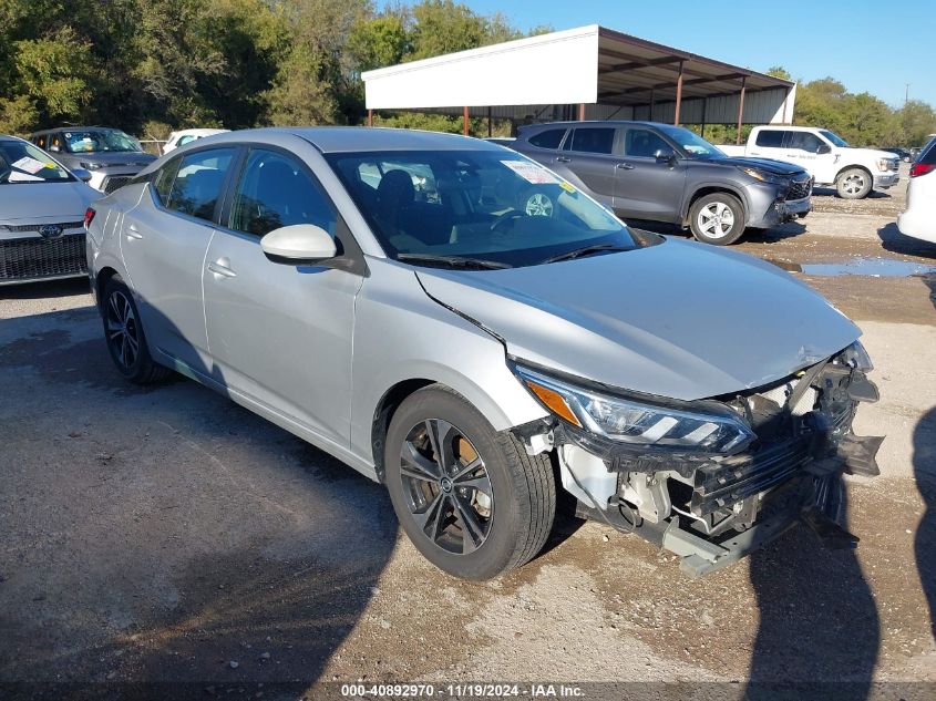
[[[754,440],[727,406],[712,403],[696,412],[576,386],[521,365],[515,371],[546,409],[613,441],[731,454]]]

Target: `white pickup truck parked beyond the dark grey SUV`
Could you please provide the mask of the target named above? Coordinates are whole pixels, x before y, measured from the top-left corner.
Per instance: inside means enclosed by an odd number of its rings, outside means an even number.
[[[899,159],[886,151],[852,148],[834,132],[812,126],[755,126],[744,146],[719,146],[730,156],[785,161],[805,168],[816,185],[861,199],[901,179]]]

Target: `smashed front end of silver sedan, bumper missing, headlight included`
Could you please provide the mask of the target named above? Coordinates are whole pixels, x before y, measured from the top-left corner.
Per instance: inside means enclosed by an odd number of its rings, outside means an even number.
[[[527,451],[556,450],[578,514],[719,569],[798,520],[830,547],[854,547],[842,474],[874,476],[883,437],[856,436],[860,402],[877,400],[858,342],[765,386],[703,402],[621,396],[517,363],[551,410],[518,426]]]

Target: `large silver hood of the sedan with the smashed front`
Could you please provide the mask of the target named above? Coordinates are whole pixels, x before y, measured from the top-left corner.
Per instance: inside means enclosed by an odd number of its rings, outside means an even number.
[[[781,380],[861,336],[779,268],[675,239],[544,266],[418,276],[520,360],[672,399]]]

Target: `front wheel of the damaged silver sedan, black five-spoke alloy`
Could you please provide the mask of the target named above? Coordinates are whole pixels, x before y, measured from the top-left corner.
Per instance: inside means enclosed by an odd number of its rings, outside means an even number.
[[[384,452],[390,499],[410,540],[440,569],[496,577],[546,543],[556,485],[545,454],[527,455],[466,400],[439,384],[393,415]]]

